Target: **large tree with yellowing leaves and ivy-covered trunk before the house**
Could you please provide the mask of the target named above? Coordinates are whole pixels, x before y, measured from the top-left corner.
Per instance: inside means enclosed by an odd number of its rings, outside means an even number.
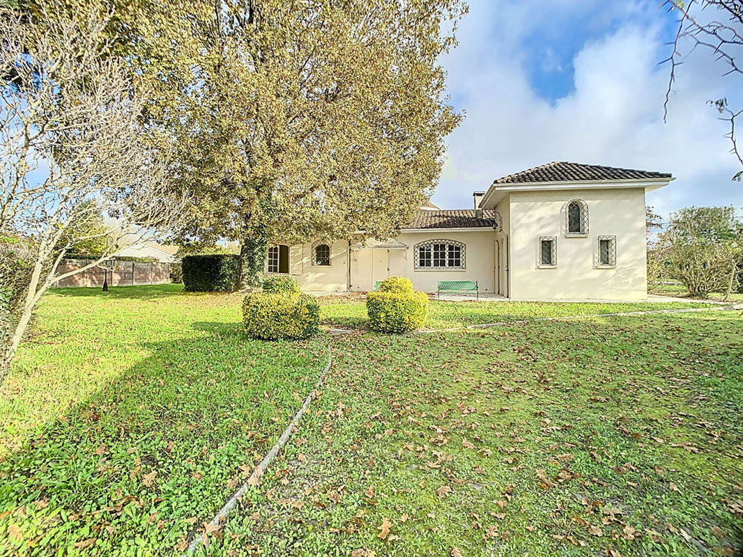
[[[133,6],[133,7],[132,7]],[[192,193],[183,241],[383,238],[428,197],[460,120],[438,58],[461,0],[141,1],[126,59]]]

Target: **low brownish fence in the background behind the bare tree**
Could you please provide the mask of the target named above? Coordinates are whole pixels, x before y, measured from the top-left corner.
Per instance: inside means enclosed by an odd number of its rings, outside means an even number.
[[[62,259],[57,274],[69,273],[90,264],[91,259]],[[108,286],[140,286],[142,284],[169,284],[170,264],[156,261],[117,261],[114,270],[91,267],[52,284],[53,288],[75,286],[103,286],[108,273]]]

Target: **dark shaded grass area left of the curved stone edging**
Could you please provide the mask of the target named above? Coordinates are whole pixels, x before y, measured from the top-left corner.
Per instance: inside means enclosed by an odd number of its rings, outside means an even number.
[[[206,334],[144,344],[148,357],[0,458],[0,555],[62,554],[93,538],[101,555],[172,553],[224,503],[239,466],[252,468],[291,420],[326,353],[317,339],[194,328]]]

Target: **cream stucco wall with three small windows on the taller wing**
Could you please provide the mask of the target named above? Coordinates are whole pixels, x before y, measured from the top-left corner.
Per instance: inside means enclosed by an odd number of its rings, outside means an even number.
[[[588,204],[588,236],[565,237],[565,206]],[[509,202],[510,297],[644,299],[647,296],[645,190],[512,192]],[[557,266],[539,268],[540,235],[557,236]],[[617,265],[597,265],[598,236],[617,237]]]

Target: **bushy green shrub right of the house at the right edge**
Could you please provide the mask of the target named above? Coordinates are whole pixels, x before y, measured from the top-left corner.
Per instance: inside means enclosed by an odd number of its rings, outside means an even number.
[[[672,213],[659,247],[690,296],[724,292],[727,300],[743,261],[743,225],[731,206],[687,207]]]

